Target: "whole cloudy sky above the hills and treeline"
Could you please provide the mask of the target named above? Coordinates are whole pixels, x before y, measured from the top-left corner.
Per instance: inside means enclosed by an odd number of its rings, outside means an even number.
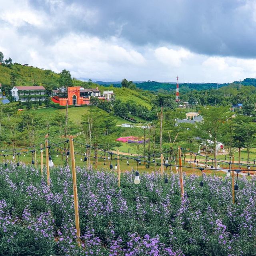
[[[256,1],[0,0],[0,51],[84,80],[256,78]]]

